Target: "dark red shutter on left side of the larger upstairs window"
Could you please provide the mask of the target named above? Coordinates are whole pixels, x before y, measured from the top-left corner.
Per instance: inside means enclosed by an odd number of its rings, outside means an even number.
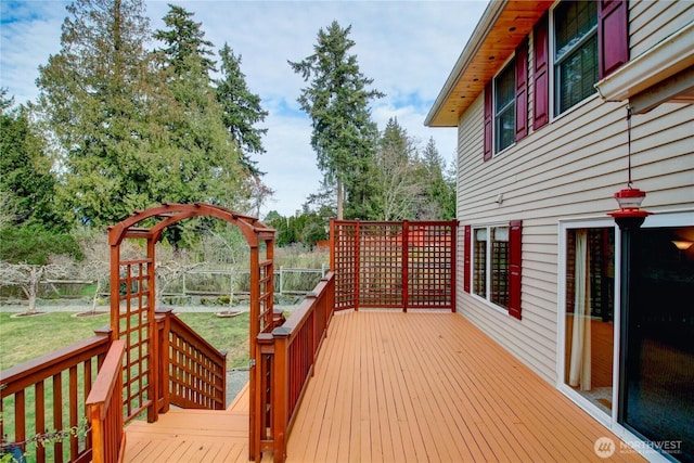
[[[534,80],[532,80],[532,128],[535,130],[550,121],[550,40],[549,16],[544,13],[532,30]]]

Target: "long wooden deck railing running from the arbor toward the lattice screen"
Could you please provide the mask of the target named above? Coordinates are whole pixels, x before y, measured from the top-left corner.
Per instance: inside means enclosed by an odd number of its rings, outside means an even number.
[[[256,345],[256,426],[253,454],[286,458],[286,440],[335,306],[335,275],[323,278],[281,326],[260,333]]]

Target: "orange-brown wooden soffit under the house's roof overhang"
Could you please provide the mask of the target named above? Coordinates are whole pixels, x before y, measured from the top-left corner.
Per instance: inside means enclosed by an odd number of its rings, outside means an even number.
[[[460,116],[554,1],[490,1],[424,121],[458,127]]]

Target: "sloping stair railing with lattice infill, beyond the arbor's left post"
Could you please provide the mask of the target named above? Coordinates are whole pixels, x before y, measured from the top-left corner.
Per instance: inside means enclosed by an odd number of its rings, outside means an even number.
[[[159,411],[169,404],[185,409],[224,410],[227,352],[219,351],[170,309],[156,312],[160,343]]]

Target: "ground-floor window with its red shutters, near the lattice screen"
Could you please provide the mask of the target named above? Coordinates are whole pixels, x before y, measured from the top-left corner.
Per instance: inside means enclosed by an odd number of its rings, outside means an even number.
[[[465,227],[463,288],[520,318],[522,222]],[[472,279],[470,275],[472,274]],[[472,282],[471,282],[472,280]],[[472,284],[471,284],[472,283]]]

